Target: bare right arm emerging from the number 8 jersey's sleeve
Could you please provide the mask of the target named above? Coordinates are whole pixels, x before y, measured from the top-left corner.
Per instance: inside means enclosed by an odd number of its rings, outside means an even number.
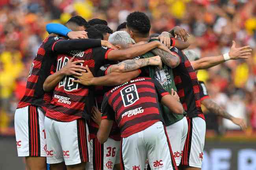
[[[172,95],[163,96],[161,103],[169,108],[173,113],[182,114],[184,111],[182,104]]]

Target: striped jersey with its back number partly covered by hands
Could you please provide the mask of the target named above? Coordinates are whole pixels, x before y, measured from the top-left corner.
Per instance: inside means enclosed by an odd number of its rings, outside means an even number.
[[[64,67],[73,56],[75,60],[84,60],[83,66],[96,75],[96,70],[106,63],[111,49],[106,47],[90,48],[85,51],[72,50],[57,57],[56,71]],[[70,122],[79,118],[90,119],[91,108],[95,104],[94,87],[72,82],[76,78],[65,76],[55,87],[46,116],[61,122]]]

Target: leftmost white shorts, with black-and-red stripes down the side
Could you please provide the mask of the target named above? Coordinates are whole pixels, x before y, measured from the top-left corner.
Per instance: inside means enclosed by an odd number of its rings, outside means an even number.
[[[36,106],[19,108],[14,125],[18,156],[46,157],[45,115]]]

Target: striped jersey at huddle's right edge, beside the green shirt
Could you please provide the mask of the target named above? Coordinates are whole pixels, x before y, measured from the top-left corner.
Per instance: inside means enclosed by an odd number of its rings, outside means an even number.
[[[204,119],[197,74],[186,55],[180,49],[173,47],[171,51],[180,57],[180,64],[173,69],[174,82],[178,90],[180,102],[188,117],[198,116]]]

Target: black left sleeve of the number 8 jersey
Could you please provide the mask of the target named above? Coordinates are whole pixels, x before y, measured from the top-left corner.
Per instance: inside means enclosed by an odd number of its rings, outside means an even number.
[[[108,97],[105,94],[102,104],[101,104],[101,111],[102,111],[102,119],[108,119],[108,120],[115,120],[115,112],[111,108],[111,106],[108,103]]]

